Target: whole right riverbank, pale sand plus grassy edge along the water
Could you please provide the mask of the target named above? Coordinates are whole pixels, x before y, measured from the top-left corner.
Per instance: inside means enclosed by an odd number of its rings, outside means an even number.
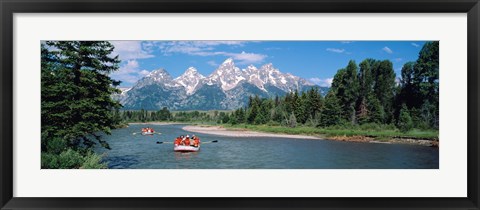
[[[277,128],[277,129],[275,129]],[[259,127],[224,127],[224,126],[210,126],[210,125],[189,125],[183,127],[184,130],[189,132],[197,132],[211,135],[221,135],[230,137],[279,137],[279,138],[303,138],[303,139],[317,139],[317,140],[332,140],[332,141],[347,141],[347,142],[361,142],[361,143],[384,143],[384,144],[413,144],[421,146],[438,147],[438,139],[426,139],[413,136],[398,136],[395,133],[391,133],[391,136],[381,135],[356,135],[354,132],[352,135],[341,134],[339,131],[320,133],[312,132],[312,128],[298,128],[298,129],[286,129],[281,127],[269,127],[268,129],[262,129]],[[265,131],[267,130],[267,131]],[[289,132],[289,133],[286,133]],[[294,134],[292,134],[294,133]],[[337,135],[332,135],[337,134]],[[341,135],[339,135],[341,134]],[[420,135],[421,136],[421,135]]]

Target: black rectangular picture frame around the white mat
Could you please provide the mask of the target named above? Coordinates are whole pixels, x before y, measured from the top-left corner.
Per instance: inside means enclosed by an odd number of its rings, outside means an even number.
[[[478,0],[0,0],[1,209],[479,209]],[[13,197],[15,13],[467,13],[468,189],[465,198],[17,198]],[[455,181],[455,180],[452,180]],[[98,186],[101,187],[101,186]],[[254,189],[252,189],[254,190]]]

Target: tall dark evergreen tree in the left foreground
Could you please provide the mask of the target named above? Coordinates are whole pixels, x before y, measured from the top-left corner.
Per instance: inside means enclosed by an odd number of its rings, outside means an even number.
[[[113,45],[96,41],[55,41],[42,47],[42,143],[60,137],[71,148],[90,147],[97,132],[110,133],[115,126],[111,99],[120,91],[119,81],[108,74],[118,69],[118,57],[111,57]],[[48,50],[52,49],[52,50]]]

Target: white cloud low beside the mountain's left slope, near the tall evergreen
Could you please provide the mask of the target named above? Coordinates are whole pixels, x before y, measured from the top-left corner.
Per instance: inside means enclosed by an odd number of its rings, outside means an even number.
[[[139,67],[140,65],[136,60],[128,60],[120,66],[118,71],[111,73],[110,76],[115,80],[122,81],[122,83],[132,84],[150,73],[147,70],[140,70]]]

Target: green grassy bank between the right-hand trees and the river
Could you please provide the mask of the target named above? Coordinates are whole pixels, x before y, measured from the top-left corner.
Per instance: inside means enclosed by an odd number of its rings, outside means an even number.
[[[425,140],[438,140],[437,130],[411,130],[408,132],[400,132],[398,129],[390,128],[389,126],[355,126],[352,128],[342,127],[327,127],[327,128],[314,128],[314,127],[285,127],[285,126],[269,126],[269,125],[222,125],[228,129],[246,129],[253,131],[269,132],[269,133],[284,133],[284,134],[297,134],[297,135],[314,135],[325,137],[337,137],[337,136],[365,136],[371,137],[376,140],[388,140],[393,138],[410,138],[410,139],[425,139]]]

